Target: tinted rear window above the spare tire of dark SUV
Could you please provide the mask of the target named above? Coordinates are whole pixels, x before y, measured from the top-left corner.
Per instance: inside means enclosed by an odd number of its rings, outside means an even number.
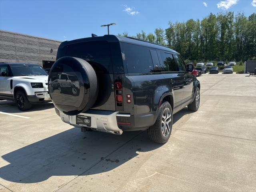
[[[106,41],[90,41],[64,46],[58,50],[58,58],[63,56],[82,58],[90,63],[96,72],[113,73],[110,45]]]

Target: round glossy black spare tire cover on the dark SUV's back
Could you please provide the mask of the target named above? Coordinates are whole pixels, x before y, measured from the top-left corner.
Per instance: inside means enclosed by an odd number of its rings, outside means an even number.
[[[62,57],[54,62],[48,77],[52,102],[67,115],[77,115],[90,109],[98,96],[94,69],[85,60]]]

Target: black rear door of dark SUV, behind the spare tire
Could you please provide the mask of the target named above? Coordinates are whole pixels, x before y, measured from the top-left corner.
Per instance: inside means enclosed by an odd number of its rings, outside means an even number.
[[[69,44],[58,49],[57,59],[72,56],[86,60],[94,68],[98,79],[98,97],[92,107],[98,110],[116,110],[111,46],[107,41],[89,41]]]

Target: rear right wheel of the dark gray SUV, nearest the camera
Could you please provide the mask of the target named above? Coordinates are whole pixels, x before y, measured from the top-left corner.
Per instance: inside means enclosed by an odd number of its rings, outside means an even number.
[[[169,110],[169,111],[166,111]],[[166,118],[165,120],[170,120],[168,123],[167,121],[164,120],[164,122],[166,122],[166,124],[164,124],[164,128],[162,128],[163,123],[162,120],[164,119],[164,113],[169,114],[169,118]],[[169,113],[170,112],[170,113]],[[148,128],[147,132],[148,132],[148,137],[150,138],[150,140],[152,140],[153,142],[156,143],[166,143],[171,135],[172,132],[172,123],[173,123],[173,118],[172,118],[172,107],[170,105],[169,102],[164,102],[162,103],[162,105],[160,106],[159,112],[158,112],[158,117],[156,119],[156,122],[153,126],[151,126],[150,128]],[[169,132],[168,131],[168,127],[169,127]],[[164,132],[163,132],[164,129]],[[168,134],[167,134],[168,133]]]

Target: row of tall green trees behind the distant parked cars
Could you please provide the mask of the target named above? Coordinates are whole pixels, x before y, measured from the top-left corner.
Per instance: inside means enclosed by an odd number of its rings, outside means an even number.
[[[128,36],[127,32],[118,34]],[[168,46],[186,60],[248,60],[256,58],[256,13],[246,17],[234,12],[210,13],[201,21],[169,22],[167,29],[154,33],[143,30],[132,36]]]

